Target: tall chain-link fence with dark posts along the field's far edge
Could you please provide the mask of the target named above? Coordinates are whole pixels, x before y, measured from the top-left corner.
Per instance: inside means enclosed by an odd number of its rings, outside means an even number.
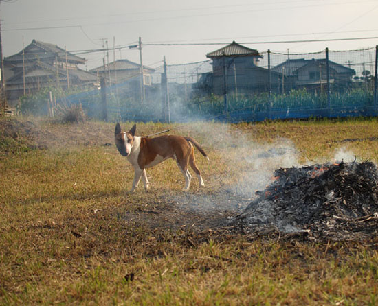
[[[260,121],[377,115],[377,47],[292,54],[265,51],[162,65],[67,97],[109,120]],[[104,101],[104,97],[105,100]],[[97,106],[107,104],[107,108]],[[98,113],[100,112],[100,113]],[[97,115],[96,115],[97,114]]]

